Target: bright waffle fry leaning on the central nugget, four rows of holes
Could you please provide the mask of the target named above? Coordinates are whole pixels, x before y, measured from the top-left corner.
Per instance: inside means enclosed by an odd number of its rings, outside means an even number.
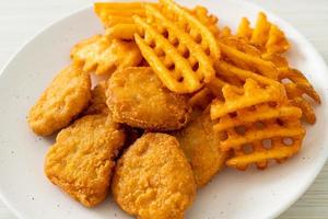
[[[134,16],[141,27],[136,43],[167,89],[195,92],[213,79],[219,46],[213,34],[190,13],[171,0],[161,3],[165,12],[145,5],[147,19]]]

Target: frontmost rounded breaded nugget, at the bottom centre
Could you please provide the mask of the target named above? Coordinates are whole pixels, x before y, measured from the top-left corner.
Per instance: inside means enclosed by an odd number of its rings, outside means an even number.
[[[140,219],[180,219],[196,195],[190,164],[178,141],[145,134],[119,159],[113,177],[115,200]]]

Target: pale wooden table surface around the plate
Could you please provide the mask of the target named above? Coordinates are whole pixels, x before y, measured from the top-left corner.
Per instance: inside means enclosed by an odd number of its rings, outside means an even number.
[[[294,25],[328,62],[328,0],[250,1],[271,10]],[[92,2],[92,0],[0,0],[0,68],[40,28]],[[0,200],[0,219],[15,218]],[[279,217],[279,219],[309,218],[328,218],[328,163],[303,197]]]

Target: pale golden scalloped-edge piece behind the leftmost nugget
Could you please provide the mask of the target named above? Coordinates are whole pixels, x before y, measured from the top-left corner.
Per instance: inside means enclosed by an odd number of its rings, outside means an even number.
[[[77,44],[71,58],[83,66],[86,72],[112,74],[116,70],[138,66],[142,56],[133,42],[109,41],[106,36],[95,35]]]

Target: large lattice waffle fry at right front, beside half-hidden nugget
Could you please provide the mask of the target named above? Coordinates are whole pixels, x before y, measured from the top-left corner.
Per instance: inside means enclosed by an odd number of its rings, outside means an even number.
[[[305,135],[302,112],[274,87],[261,88],[247,79],[243,90],[224,85],[222,92],[224,101],[213,102],[211,118],[218,122],[213,129],[223,136],[221,150],[234,151],[229,166],[246,170],[255,163],[266,169],[269,160],[282,162],[300,150]]]

